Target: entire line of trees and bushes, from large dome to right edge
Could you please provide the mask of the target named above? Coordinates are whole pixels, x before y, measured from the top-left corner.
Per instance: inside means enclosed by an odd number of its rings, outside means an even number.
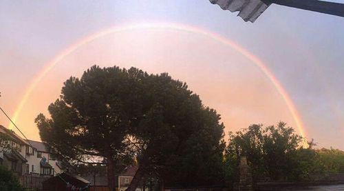
[[[255,181],[343,172],[343,152],[314,150],[312,141],[305,146],[286,123],[251,125],[230,132],[225,143],[216,110],[166,73],[93,66],[80,79],[67,79],[48,110],[50,117],[35,120],[41,140],[64,163],[104,167],[110,190],[116,173],[134,161],[138,171],[127,190],[146,181],[225,185],[237,181],[241,156],[248,157]]]

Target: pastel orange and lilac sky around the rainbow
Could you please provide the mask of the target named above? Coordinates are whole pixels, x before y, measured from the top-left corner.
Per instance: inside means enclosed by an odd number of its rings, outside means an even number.
[[[344,1],[337,1],[344,3]],[[2,1],[0,7],[0,106],[28,139],[40,140],[34,119],[49,116],[63,82],[97,64],[169,72],[222,115],[225,132],[252,123],[294,127],[285,99],[257,64],[257,57],[286,91],[303,123],[305,137],[319,147],[344,150],[344,18],[272,5],[246,23],[208,0]],[[98,37],[42,75],[54,58],[108,28],[154,25]],[[37,77],[41,77],[39,80]],[[22,109],[25,93],[35,83]],[[0,114],[0,124],[9,121]]]

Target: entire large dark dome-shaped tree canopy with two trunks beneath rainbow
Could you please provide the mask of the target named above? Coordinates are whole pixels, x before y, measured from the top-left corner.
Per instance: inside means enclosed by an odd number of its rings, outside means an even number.
[[[48,110],[50,119],[36,118],[42,141],[69,163],[104,161],[110,190],[116,163],[133,155],[139,168],[129,190],[143,177],[211,181],[221,172],[219,114],[166,73],[93,66],[68,79]]]

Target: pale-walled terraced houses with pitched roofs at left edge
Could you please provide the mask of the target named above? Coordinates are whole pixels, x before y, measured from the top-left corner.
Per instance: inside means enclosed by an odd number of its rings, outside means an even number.
[[[0,134],[6,138],[0,143],[0,165],[5,165],[18,177],[26,174],[54,176],[61,172],[58,161],[43,143],[22,139],[2,125]]]

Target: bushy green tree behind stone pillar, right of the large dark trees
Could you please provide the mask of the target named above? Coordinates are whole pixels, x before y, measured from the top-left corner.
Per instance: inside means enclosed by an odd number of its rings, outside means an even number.
[[[302,148],[302,137],[293,128],[280,122],[277,126],[263,128],[250,125],[247,129],[230,133],[226,148],[226,174],[230,179],[238,177],[237,165],[246,156],[255,181],[295,181],[308,179],[319,163],[314,150]]]

